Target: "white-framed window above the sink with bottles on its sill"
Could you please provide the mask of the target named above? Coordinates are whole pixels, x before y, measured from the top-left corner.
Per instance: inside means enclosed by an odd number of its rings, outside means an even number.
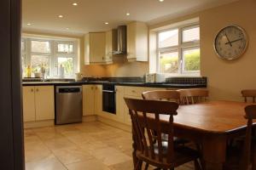
[[[31,65],[32,73],[40,72],[44,66],[46,77],[59,77],[61,66],[64,67],[65,77],[74,77],[78,71],[78,47],[75,40],[23,37],[21,49],[23,77],[28,65]]]

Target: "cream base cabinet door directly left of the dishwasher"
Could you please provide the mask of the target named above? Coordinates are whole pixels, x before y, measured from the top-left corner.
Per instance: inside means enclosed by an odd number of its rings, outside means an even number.
[[[35,87],[36,121],[55,118],[54,86]]]

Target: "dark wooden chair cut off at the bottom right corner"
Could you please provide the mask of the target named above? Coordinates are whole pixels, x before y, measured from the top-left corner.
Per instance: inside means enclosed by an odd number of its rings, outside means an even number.
[[[252,170],[256,170],[256,139],[253,137],[253,119],[256,119],[256,105],[247,105],[245,107],[247,119],[247,130],[241,148],[228,148],[227,161],[224,169],[247,170],[252,162]]]

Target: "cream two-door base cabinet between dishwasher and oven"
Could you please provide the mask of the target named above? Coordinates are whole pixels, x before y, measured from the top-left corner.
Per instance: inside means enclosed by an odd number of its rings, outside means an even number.
[[[83,116],[99,115],[102,112],[102,85],[83,86]]]

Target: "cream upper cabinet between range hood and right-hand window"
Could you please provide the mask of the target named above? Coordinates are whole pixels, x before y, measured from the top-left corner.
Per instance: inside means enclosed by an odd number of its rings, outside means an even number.
[[[148,26],[143,22],[127,25],[128,61],[148,61]]]

